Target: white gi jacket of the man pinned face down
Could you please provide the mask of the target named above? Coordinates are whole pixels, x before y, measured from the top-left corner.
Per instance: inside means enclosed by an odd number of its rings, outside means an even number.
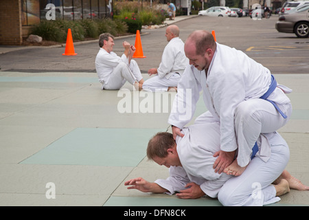
[[[214,153],[220,151],[219,124],[193,124],[182,132],[185,136],[176,138],[176,149],[182,166],[171,166],[170,177],[157,179],[155,183],[172,195],[184,190],[186,184],[194,182],[209,197],[217,197],[220,188],[232,177],[225,173],[215,173],[212,168],[216,160]],[[204,135],[205,132],[208,135]]]

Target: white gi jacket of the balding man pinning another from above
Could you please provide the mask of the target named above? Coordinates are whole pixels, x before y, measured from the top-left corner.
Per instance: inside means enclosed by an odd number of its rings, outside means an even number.
[[[209,66],[199,71],[188,65],[178,85],[178,93],[168,122],[180,129],[190,122],[196,102],[203,90],[203,100],[208,111],[220,122],[221,150],[238,148],[234,129],[234,111],[237,105],[249,98],[260,98],[271,85],[271,72],[260,63],[235,48],[216,43],[216,52]],[[280,89],[279,89],[280,87]],[[278,85],[268,97],[277,104],[290,102],[282,91],[288,88]],[[180,111],[185,108],[185,111]]]

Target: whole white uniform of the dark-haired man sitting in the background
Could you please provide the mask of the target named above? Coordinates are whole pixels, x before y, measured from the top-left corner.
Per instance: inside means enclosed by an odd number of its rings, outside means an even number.
[[[95,69],[102,89],[120,89],[126,81],[133,85],[143,78],[136,61],[131,60],[129,64],[126,55],[119,57],[103,48],[100,48],[95,58]]]

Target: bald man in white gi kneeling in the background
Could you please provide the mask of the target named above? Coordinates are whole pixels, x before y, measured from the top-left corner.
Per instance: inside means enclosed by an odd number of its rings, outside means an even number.
[[[165,32],[168,45],[165,46],[159,68],[148,70],[149,78],[143,84],[145,91],[170,91],[176,90],[181,75],[189,60],[183,50],[184,43],[179,38],[179,28],[176,25],[170,25]],[[171,90],[172,91],[172,90]]]

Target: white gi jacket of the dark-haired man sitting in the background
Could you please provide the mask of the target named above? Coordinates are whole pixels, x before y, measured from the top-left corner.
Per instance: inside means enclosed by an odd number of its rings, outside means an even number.
[[[98,73],[100,83],[107,83],[109,76],[113,73],[115,67],[120,62],[128,65],[128,58],[122,54],[122,57],[117,56],[114,52],[108,53],[102,47],[95,57],[95,69]]]

